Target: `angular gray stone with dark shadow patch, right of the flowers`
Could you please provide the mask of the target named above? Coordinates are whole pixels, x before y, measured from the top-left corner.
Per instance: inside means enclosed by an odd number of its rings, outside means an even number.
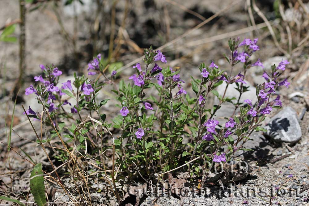
[[[266,134],[276,142],[295,143],[302,137],[296,111],[291,107],[282,109],[265,126]]]

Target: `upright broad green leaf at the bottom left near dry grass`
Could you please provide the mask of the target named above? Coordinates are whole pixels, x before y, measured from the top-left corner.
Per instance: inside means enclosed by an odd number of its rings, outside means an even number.
[[[40,176],[36,176],[40,175]],[[47,206],[42,164],[34,166],[30,175],[30,192],[38,206]]]

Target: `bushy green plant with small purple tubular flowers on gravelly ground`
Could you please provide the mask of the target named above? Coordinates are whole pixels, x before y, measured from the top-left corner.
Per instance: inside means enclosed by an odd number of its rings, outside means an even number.
[[[173,170],[180,165],[188,166],[189,174],[197,175],[204,184],[209,174],[204,170],[211,170],[215,162],[229,161],[239,149],[248,150],[240,144],[248,141],[253,131],[264,130],[261,123],[265,115],[273,108],[281,107],[280,96],[273,97],[276,89],[289,86],[286,79],[280,80],[289,63],[282,61],[277,67],[272,65],[271,72],[263,74],[265,82],[256,87],[257,102],[252,99],[240,102],[240,97],[249,88],[245,82],[248,69],[252,66],[264,68],[260,60],[252,62],[250,59],[259,50],[257,41],[229,40],[230,54],[225,57],[231,65],[230,74],[222,71],[214,61],[210,65],[201,63],[198,66],[200,78],[191,76],[195,97],[190,97],[184,89],[185,82],[180,78],[180,70],[164,67],[167,63],[165,56],[152,47],[144,50],[143,64],[133,66],[136,73],[129,77],[132,83],[121,80],[116,84],[116,71],[108,78],[100,55],[88,64],[88,75],[98,75],[95,81],[74,74],[74,81],[68,80],[61,87],[59,76],[62,72],[53,65],[40,65],[44,74],[35,77],[40,84],[31,85],[25,94],[34,93],[44,112],[39,113],[29,107],[26,113],[42,121],[45,127],[52,125],[54,131],[51,130],[50,135],[45,129],[49,144],[52,137],[65,138],[62,144],[66,152],[57,150],[58,159],[65,161],[68,156],[72,158],[68,153],[77,150],[79,158],[95,160],[100,168],[105,168],[118,199],[115,182],[123,179],[133,181],[135,171],[144,180],[150,181],[154,174]],[[243,65],[243,71],[233,76],[232,71],[237,64]],[[223,82],[226,88],[221,96],[216,88]],[[104,113],[107,110],[103,106],[109,99],[98,101],[97,96],[108,84],[114,86],[112,92],[119,102],[115,105],[119,107],[119,113],[116,117],[107,118],[110,114]],[[226,96],[227,88],[232,85],[239,91],[238,99]],[[210,93],[219,100],[213,108],[207,104]],[[73,99],[74,103],[69,99]],[[220,124],[216,120],[216,112],[225,102],[233,104],[235,110],[233,115],[226,116],[225,123]],[[65,108],[68,106],[71,113]],[[92,123],[85,119],[86,116]],[[225,145],[228,147],[224,150]],[[193,159],[197,160],[193,163]],[[209,161],[210,166],[205,165],[202,169],[201,159]],[[112,164],[106,163],[111,160]],[[117,176],[117,173],[120,175]]]

